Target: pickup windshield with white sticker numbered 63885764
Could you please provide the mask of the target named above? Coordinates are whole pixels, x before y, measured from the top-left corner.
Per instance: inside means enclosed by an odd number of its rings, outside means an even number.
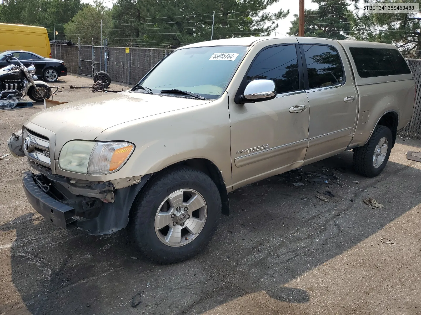
[[[179,89],[217,99],[246,49],[246,46],[213,46],[176,50],[140,84],[154,93]]]

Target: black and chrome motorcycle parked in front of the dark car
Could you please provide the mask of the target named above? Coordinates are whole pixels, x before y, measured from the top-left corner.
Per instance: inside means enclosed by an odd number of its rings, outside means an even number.
[[[8,65],[0,69],[0,102],[15,102],[28,96],[34,102],[43,102],[50,98],[51,86],[43,81],[37,81],[35,67],[25,67],[13,54],[6,55],[6,60],[16,59],[20,65]],[[35,81],[34,81],[35,80]],[[57,88],[58,89],[58,88]]]

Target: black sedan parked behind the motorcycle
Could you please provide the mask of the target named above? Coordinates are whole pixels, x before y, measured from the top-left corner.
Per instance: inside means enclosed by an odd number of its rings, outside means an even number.
[[[31,53],[29,51],[8,50],[0,53],[0,68],[3,68],[11,63],[19,64],[17,60],[6,60],[6,54],[12,53],[18,58],[25,67],[30,65],[35,66],[35,75],[39,79],[44,79],[47,82],[55,82],[59,76],[67,76],[67,68],[64,66],[63,60],[44,58],[40,55]]]

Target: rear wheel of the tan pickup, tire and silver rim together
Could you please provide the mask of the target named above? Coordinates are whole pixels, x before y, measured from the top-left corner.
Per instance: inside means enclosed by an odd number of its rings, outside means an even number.
[[[368,142],[354,149],[354,170],[366,177],[376,177],[383,171],[392,150],[392,131],[377,125]]]

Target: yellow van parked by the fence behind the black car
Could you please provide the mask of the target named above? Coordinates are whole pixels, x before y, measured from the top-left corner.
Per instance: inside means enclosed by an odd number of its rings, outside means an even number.
[[[27,50],[51,58],[47,29],[39,26],[0,23],[0,51]]]

